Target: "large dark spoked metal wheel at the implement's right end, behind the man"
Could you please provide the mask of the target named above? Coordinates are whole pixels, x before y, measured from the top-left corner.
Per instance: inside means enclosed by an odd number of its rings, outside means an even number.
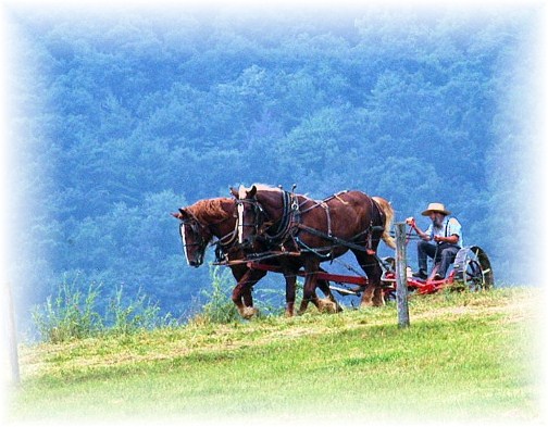
[[[454,258],[454,280],[472,291],[490,289],[495,281],[487,254],[479,247],[464,247]]]

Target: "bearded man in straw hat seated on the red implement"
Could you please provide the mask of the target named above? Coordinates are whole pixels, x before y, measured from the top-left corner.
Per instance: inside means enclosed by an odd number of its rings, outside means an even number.
[[[416,244],[419,255],[419,272],[413,273],[413,277],[425,280],[427,276],[427,256],[439,263],[439,268],[434,276],[435,280],[445,278],[449,265],[454,261],[454,256],[462,247],[461,225],[457,218],[449,217],[451,213],[441,203],[429,203],[423,216],[428,216],[432,224],[426,231],[423,231],[413,217],[406,219],[406,223],[414,228],[422,239]]]

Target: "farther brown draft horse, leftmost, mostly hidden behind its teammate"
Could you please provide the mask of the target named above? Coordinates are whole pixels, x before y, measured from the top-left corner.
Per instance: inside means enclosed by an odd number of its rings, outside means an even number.
[[[203,263],[205,249],[213,237],[217,239],[217,250],[229,262],[245,259],[245,252],[237,243],[237,215],[234,199],[200,200],[190,206],[180,208],[179,212],[172,213],[172,215],[182,222],[180,237],[183,238],[185,256],[190,266],[198,267]],[[264,250],[259,243],[254,246],[254,249],[257,251]],[[291,316],[296,298],[296,271],[286,268],[279,260],[265,260],[264,262],[282,266],[286,279],[286,315]],[[266,275],[266,272],[249,268],[246,262],[232,263],[229,267],[237,281],[232,299],[240,315],[244,318],[250,318],[257,313],[251,296],[252,287]],[[327,281],[321,280],[319,287],[331,301],[335,301]],[[327,303],[324,302],[324,304]],[[335,303],[335,309],[337,307],[338,304]]]

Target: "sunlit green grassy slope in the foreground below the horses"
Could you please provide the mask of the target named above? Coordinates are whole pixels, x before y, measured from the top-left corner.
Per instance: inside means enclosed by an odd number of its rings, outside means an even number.
[[[21,349],[12,420],[533,420],[535,291]]]

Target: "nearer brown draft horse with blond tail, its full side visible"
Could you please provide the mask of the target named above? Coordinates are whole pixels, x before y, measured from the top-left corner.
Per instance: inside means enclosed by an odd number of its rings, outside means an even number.
[[[368,276],[361,305],[384,304],[383,272],[376,250],[381,239],[395,248],[388,234],[394,218],[388,201],[361,191],[344,191],[315,201],[267,186],[240,187],[237,199],[240,243],[250,244],[262,238],[271,248],[301,252],[307,278],[300,313],[309,302],[317,304],[314,290],[320,263],[348,250]]]

